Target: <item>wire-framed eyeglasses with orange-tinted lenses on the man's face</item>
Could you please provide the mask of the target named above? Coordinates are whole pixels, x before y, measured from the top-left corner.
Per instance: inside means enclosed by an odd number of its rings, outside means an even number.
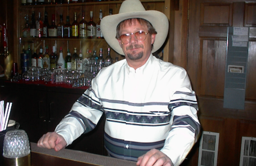
[[[131,35],[134,34],[135,38],[138,40],[138,41],[144,41],[146,38],[147,38],[147,34],[146,32],[140,30],[138,32],[135,32],[135,33],[131,33],[131,34],[122,34],[120,37],[119,37],[119,40],[121,40],[121,43],[122,44],[128,44],[130,41],[131,41]]]

